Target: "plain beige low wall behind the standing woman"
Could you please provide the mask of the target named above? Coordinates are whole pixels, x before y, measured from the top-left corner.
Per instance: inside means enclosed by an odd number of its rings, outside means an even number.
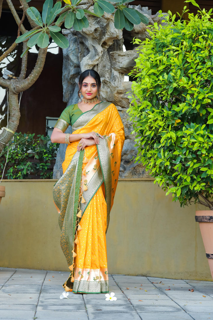
[[[52,202],[55,182],[3,181],[1,267],[69,271]],[[211,280],[194,214],[194,205],[180,208],[151,179],[119,180],[107,232],[109,273]]]

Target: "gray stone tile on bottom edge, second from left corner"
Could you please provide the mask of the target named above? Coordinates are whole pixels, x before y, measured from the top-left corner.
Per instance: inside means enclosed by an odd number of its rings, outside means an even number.
[[[88,320],[86,311],[37,311],[35,317],[41,320]]]

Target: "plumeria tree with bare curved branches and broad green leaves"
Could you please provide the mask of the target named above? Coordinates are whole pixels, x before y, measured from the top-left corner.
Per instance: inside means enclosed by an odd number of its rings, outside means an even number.
[[[68,40],[61,33],[61,26],[64,23],[65,28],[73,28],[80,31],[89,26],[88,15],[94,15],[100,19],[105,13],[114,14],[114,25],[117,29],[126,28],[132,30],[134,25],[141,22],[147,24],[148,18],[141,12],[128,8],[126,0],[46,0],[43,4],[42,13],[35,8],[30,7],[31,0],[19,0],[23,17],[19,16],[11,0],[6,0],[14,19],[17,22],[17,39],[0,57],[0,62],[6,58],[19,43],[23,43],[23,52],[21,54],[22,63],[19,77],[10,76],[8,79],[0,77],[0,85],[8,90],[8,102],[10,111],[10,120],[8,127],[0,134],[0,152],[16,132],[20,112],[18,95],[30,88],[40,76],[47,54],[49,40],[52,40],[62,49],[69,46]],[[133,0],[129,0],[132,2]],[[3,0],[0,0],[0,17],[2,12]],[[23,21],[27,16],[31,30],[26,30]],[[37,61],[34,69],[26,77],[27,72],[27,52],[34,45],[39,47]]]

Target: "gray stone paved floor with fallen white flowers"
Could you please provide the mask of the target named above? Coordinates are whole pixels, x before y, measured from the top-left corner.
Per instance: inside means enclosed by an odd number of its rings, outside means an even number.
[[[116,301],[72,292],[69,299],[60,299],[68,276],[0,268],[0,319],[213,320],[213,282],[110,275]]]

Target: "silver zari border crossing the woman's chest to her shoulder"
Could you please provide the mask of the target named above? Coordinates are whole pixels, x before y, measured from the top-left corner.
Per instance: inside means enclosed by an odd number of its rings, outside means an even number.
[[[87,125],[97,114],[105,110],[109,107],[111,102],[102,102],[95,105],[95,107],[85,113],[83,113],[73,124],[72,124],[72,131],[76,131],[81,129],[85,125]]]

